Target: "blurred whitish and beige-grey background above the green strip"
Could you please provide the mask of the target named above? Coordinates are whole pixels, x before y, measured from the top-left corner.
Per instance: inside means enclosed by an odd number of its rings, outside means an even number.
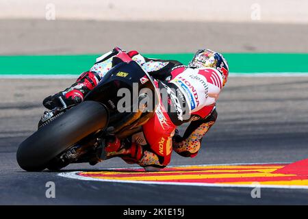
[[[305,53],[305,0],[0,0],[0,55]]]

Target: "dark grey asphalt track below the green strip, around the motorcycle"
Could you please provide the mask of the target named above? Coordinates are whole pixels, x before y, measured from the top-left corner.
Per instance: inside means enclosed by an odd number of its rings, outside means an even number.
[[[272,205],[308,204],[308,190],[144,185],[79,181],[57,172],[25,172],[16,149],[36,130],[44,96],[73,79],[0,79],[0,204],[34,205]],[[170,165],[295,162],[308,157],[308,77],[230,77],[218,101],[218,121],[194,159],[172,155]],[[181,129],[183,131],[183,129]],[[110,159],[97,166],[71,164],[64,171],[129,166]],[[45,184],[55,182],[56,198]]]

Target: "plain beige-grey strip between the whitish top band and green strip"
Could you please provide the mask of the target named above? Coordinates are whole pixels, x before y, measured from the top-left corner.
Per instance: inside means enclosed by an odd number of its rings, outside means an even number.
[[[0,20],[0,55],[105,53],[307,53],[308,25],[269,23]],[[295,61],[294,61],[295,62]],[[275,63],[274,63],[275,64]]]

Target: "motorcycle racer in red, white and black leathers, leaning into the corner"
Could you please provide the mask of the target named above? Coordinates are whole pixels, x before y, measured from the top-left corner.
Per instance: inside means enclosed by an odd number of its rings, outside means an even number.
[[[172,149],[183,157],[195,157],[203,136],[216,121],[216,100],[229,73],[224,57],[209,49],[197,51],[188,66],[184,66],[175,60],[151,59],[138,51],[126,52],[116,47],[97,58],[94,66],[82,73],[70,88],[44,99],[43,105],[49,110],[61,105],[58,96],[67,105],[81,103],[112,68],[113,57],[119,53],[136,61],[157,79],[157,88],[166,89],[168,95],[167,101],[161,101],[157,107],[155,116],[142,127],[142,133],[129,140],[107,138],[105,156],[122,157],[125,162],[139,164],[146,170],[164,168],[170,162]],[[191,123],[184,135],[179,136],[176,127],[188,122]]]

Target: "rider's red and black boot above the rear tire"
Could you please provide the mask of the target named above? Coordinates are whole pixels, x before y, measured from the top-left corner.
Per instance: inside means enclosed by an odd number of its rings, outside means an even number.
[[[84,101],[84,96],[97,86],[99,79],[99,75],[95,72],[87,71],[82,73],[78,77],[76,83],[73,83],[70,88],[66,88],[64,91],[58,92],[53,96],[47,96],[43,101],[43,105],[47,109],[53,110],[55,107],[63,107],[64,104],[62,101],[64,101],[67,106],[81,103]],[[60,99],[62,99],[62,101]]]

